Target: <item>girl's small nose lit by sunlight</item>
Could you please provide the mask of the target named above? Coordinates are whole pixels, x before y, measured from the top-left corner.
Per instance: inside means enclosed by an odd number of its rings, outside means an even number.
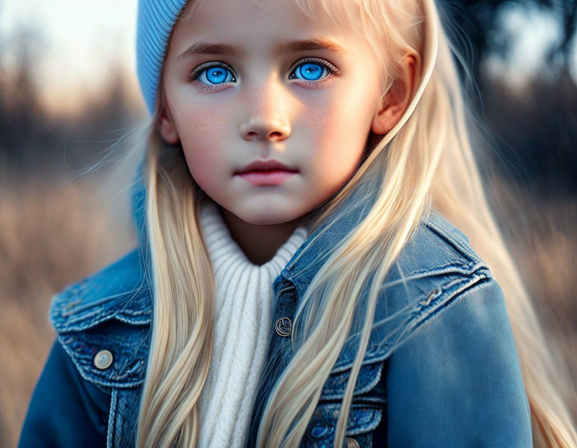
[[[241,123],[240,132],[245,140],[279,141],[286,139],[291,133],[285,102],[282,98],[282,87],[275,82],[263,83],[248,97],[252,98],[246,105],[250,113]]]

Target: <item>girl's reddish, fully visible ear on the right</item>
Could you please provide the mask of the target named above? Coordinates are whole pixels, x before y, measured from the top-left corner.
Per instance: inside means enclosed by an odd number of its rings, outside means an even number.
[[[379,110],[373,116],[370,130],[377,135],[387,134],[399,123],[403,113],[409,107],[415,87],[415,73],[418,69],[418,56],[408,54],[400,67],[400,76],[381,100]]]

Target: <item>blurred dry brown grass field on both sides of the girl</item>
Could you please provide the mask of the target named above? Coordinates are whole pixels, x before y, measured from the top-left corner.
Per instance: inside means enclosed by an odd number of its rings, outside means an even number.
[[[505,193],[510,190],[501,184],[494,189],[516,223],[508,231],[512,250],[553,348],[575,372],[577,204],[535,204],[526,195]],[[54,188],[43,181],[12,182],[0,192],[0,446],[15,446],[55,336],[47,318],[51,295],[127,252],[136,240],[125,237],[130,223],[111,219],[89,183]],[[577,413],[577,403],[571,407]]]

